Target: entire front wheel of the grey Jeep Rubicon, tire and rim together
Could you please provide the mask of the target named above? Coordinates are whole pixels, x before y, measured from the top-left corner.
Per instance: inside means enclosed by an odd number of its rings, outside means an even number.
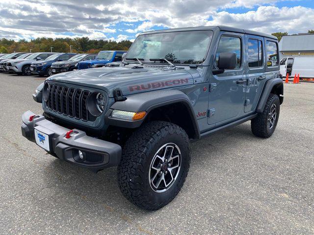
[[[119,188],[134,205],[158,210],[183,186],[190,165],[189,140],[172,123],[152,121],[126,142],[118,165]]]

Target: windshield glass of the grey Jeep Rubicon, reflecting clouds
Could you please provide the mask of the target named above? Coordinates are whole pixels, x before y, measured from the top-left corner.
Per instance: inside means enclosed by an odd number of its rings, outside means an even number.
[[[183,31],[140,35],[132,44],[126,58],[165,58],[173,64],[202,64],[205,61],[213,32]],[[158,61],[157,63],[166,63]]]

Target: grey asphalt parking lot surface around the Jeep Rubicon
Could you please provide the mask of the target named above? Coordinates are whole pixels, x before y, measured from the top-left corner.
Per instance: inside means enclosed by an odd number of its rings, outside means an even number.
[[[192,143],[181,192],[152,212],[123,197],[115,167],[95,174],[22,137],[44,79],[0,73],[0,234],[314,234],[314,83],[285,84],[267,140],[247,122]]]

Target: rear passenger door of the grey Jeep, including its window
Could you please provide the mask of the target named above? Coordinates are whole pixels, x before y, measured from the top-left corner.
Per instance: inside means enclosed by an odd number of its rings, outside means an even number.
[[[255,35],[246,35],[247,84],[245,89],[244,112],[255,109],[265,84],[264,40]]]

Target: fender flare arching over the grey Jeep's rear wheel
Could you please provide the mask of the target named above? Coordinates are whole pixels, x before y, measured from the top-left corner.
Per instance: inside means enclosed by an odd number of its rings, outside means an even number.
[[[280,104],[284,101],[284,83],[283,79],[281,78],[273,78],[266,81],[266,84],[264,86],[264,89],[262,91],[262,95],[260,98],[260,101],[257,105],[256,112],[262,113],[264,110],[264,107],[266,105],[267,99],[269,97],[269,94],[273,90],[273,88],[276,87],[276,90],[278,91],[278,96],[280,99]]]

